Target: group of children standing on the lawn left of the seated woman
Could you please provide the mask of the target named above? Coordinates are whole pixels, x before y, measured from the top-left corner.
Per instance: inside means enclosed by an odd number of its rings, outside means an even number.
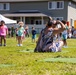
[[[36,39],[36,30],[32,27],[32,42],[35,42]],[[18,27],[14,29],[14,27],[8,28],[5,25],[5,22],[2,20],[0,22],[0,46],[6,46],[6,36],[14,37],[16,36],[17,46],[23,46],[22,41],[25,37],[29,37],[29,27],[26,25],[24,28],[24,23],[20,21],[18,23]]]

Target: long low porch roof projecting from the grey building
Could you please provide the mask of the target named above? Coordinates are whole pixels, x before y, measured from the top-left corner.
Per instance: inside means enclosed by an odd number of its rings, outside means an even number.
[[[40,16],[48,16],[38,10],[19,10],[17,12],[11,12],[11,13],[7,13],[7,14],[3,14],[4,16],[8,16],[8,17],[40,17]]]

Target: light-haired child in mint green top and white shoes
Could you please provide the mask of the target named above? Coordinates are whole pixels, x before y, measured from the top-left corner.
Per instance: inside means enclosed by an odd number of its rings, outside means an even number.
[[[24,23],[19,22],[19,27],[18,27],[18,46],[22,46],[22,37],[24,35]]]

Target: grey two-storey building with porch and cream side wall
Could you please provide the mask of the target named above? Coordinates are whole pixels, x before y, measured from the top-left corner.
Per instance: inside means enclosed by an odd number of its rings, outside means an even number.
[[[76,0],[0,0],[0,14],[40,31],[48,17],[67,20],[71,26],[76,20]]]

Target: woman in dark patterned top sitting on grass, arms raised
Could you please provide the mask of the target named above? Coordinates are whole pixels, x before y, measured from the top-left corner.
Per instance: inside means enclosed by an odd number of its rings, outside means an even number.
[[[61,28],[53,28],[53,25],[60,24]],[[53,38],[56,34],[59,34],[65,30],[65,25],[57,21],[49,21],[47,26],[41,31],[38,38],[38,42],[34,52],[59,52],[63,46],[63,41],[53,42]]]

